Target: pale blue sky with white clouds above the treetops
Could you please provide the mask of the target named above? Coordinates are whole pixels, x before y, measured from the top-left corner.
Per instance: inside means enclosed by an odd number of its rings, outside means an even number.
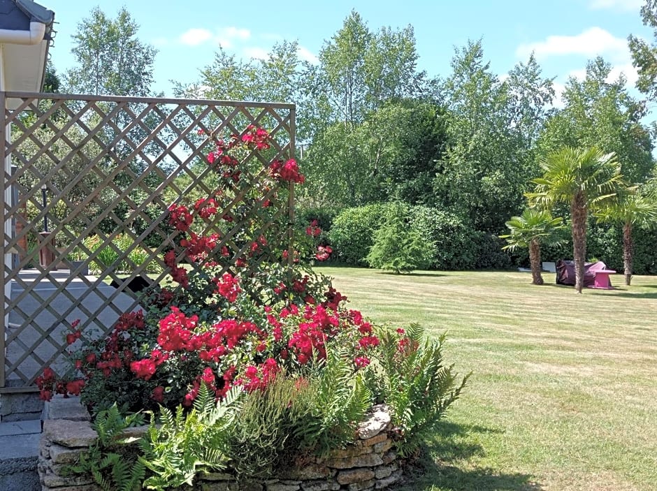
[[[504,75],[534,51],[543,74],[559,91],[569,76],[581,77],[586,61],[600,54],[633,85],[635,71],[627,36],[651,38],[642,25],[642,0],[403,0],[251,1],[38,0],[55,12],[58,31],[52,61],[58,73],[73,66],[71,36],[97,5],[114,17],[127,6],[139,38],[157,48],[156,91],[171,96],[170,80],[193,82],[212,62],[219,44],[239,57],[263,57],[276,41],[298,41],[301,57],[313,61],[342,27],[352,9],[370,30],[414,27],[419,68],[447,76],[454,47],[482,38],[491,70]]]

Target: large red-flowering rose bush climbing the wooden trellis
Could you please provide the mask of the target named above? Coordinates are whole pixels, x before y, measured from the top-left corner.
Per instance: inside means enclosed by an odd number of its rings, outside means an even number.
[[[291,234],[287,214],[279,212],[291,186],[305,181],[298,163],[274,155],[263,166],[247,158],[273,147],[256,126],[213,143],[206,163],[217,189],[168,207],[175,232],[163,261],[170,278],[101,339],[80,339],[73,325],[67,342],[82,346],[71,353],[72,376],[58,379],[46,369],[37,380],[43,399],[80,394],[94,413],[113,404],[124,412],[191,411],[200,394],[221,402],[229,392],[248,398],[289,381],[285,397],[315,391],[298,420],[312,431],[289,431],[326,445],[336,436],[352,438],[377,402],[389,404],[408,441],[440,418],[465,383],[442,365],[442,338],[431,342],[417,326],[373,325],[312,270],[312,261],[333,252],[320,242],[317,221]]]

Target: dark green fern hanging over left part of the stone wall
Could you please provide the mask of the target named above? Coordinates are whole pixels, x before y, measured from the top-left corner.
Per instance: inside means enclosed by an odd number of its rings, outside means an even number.
[[[128,427],[142,425],[143,421],[141,413],[122,416],[116,404],[100,411],[92,425],[98,433],[96,443],[67,470],[91,474],[103,491],[140,490],[145,467],[136,455],[135,439],[122,437],[122,432]]]

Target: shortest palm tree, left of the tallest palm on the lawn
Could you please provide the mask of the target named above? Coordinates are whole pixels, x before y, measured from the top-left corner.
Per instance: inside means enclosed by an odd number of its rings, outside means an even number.
[[[507,240],[507,245],[502,249],[529,249],[529,263],[531,265],[532,283],[543,284],[541,276],[541,247],[542,241],[555,244],[561,242],[557,233],[563,227],[561,218],[552,218],[547,210],[534,210],[526,208],[520,217],[511,217],[506,222],[510,234],[500,235],[501,239]]]

